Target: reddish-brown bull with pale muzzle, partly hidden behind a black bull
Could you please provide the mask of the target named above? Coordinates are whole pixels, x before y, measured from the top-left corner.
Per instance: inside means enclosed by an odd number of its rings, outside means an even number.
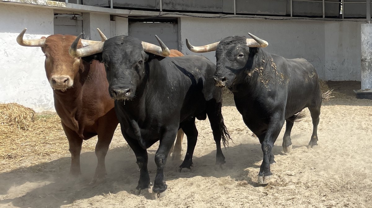
[[[41,47],[45,54],[45,72],[53,90],[54,107],[61,118],[71,153],[70,176],[81,174],[80,151],[83,140],[98,136],[96,144],[97,167],[91,183],[106,176],[105,156],[118,120],[114,100],[108,93],[108,82],[103,63],[92,64],[71,57],[68,49],[76,36],[54,34],[35,40],[23,40],[24,29],[17,37],[21,46]],[[99,31],[100,32],[100,31]],[[102,33],[102,40],[105,37]],[[100,41],[81,40],[78,47]],[[174,56],[180,56],[173,50]],[[182,55],[183,56],[183,55]],[[181,156],[183,132],[177,134],[173,158]],[[177,146],[178,145],[178,146]]]

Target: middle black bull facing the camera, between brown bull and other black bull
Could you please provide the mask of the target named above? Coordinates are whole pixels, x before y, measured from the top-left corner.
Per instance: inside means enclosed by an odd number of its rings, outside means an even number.
[[[80,37],[71,45],[70,55],[105,64],[122,134],[140,168],[137,194],[148,190],[150,184],[146,149],[160,140],[153,197],[165,195],[164,166],[179,128],[187,136],[187,152],[180,169],[190,168],[198,137],[195,118],[206,119],[208,115],[217,146],[216,165],[225,163],[221,138],[225,145],[230,135],[221,114],[222,89],[214,84],[216,66],[211,61],[201,56],[166,57],[169,49],[160,39],[161,47],[116,36],[77,49]]]

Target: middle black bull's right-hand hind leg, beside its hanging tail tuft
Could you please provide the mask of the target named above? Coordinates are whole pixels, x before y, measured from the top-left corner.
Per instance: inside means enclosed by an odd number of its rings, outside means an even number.
[[[209,123],[211,123],[211,128],[213,132],[213,139],[216,142],[216,164],[215,169],[224,169],[225,156],[221,150],[221,138],[224,145],[228,144],[228,139],[230,134],[227,132],[226,126],[224,124],[224,118],[221,113],[221,103],[212,103],[210,107],[207,108],[207,115]]]

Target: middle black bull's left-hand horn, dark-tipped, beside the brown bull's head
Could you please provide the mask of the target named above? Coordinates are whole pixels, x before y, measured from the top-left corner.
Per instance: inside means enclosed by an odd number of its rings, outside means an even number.
[[[70,54],[70,56],[80,58],[80,57],[89,56],[89,55],[102,52],[103,44],[105,44],[105,42],[100,42],[100,41],[96,41],[96,42],[99,42],[97,44],[91,44],[87,47],[77,49],[77,44],[79,43],[81,36],[83,36],[83,33],[80,33],[80,35],[77,36],[77,38],[71,44],[70,49],[68,50],[68,53]]]

